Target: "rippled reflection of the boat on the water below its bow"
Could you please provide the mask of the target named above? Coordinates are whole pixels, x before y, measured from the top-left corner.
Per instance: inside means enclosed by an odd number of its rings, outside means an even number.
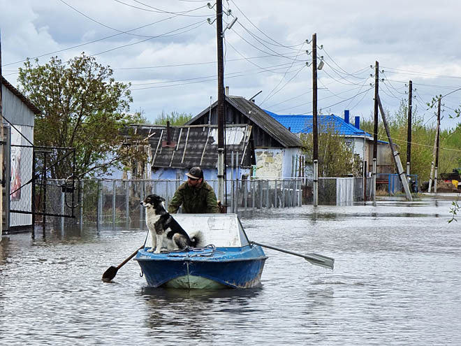
[[[247,317],[258,314],[252,301],[258,289],[184,290],[143,287],[140,291],[147,313],[145,325],[152,335],[164,340],[177,339],[168,331],[184,334],[196,342],[219,340],[223,324],[245,325]],[[223,318],[225,316],[225,318]],[[163,333],[166,332],[166,333]]]

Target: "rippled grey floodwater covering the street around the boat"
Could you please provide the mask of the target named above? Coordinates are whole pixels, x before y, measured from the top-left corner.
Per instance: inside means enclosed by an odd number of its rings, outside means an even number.
[[[250,239],[335,258],[335,270],[265,250],[251,290],[149,289],[130,261],[142,229],[3,236],[1,345],[461,345],[456,196],[269,210]]]

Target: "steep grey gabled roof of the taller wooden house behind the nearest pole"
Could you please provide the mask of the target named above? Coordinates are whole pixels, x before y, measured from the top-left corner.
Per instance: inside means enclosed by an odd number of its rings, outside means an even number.
[[[269,136],[277,140],[283,147],[300,147],[302,145],[298,136],[295,136],[286,127],[282,126],[274,118],[270,117],[268,113],[262,108],[259,108],[256,103],[244,99],[241,96],[226,96],[226,101],[231,104],[234,108],[239,110],[244,117],[251,120],[259,128],[265,131]],[[211,108],[217,107],[217,101],[214,102]],[[205,108],[202,112],[198,113],[186,125],[193,124],[200,117],[207,116],[210,113],[210,107]],[[229,125],[226,125],[226,128]]]

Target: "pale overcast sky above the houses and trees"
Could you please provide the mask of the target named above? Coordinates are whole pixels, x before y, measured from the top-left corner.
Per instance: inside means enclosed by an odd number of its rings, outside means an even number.
[[[154,121],[162,112],[196,115],[217,99],[216,7],[201,0],[0,0],[3,76],[17,85],[27,57],[45,64],[85,51],[131,82],[131,109]],[[214,2],[210,0],[213,5]],[[408,99],[426,124],[426,103],[444,96],[441,126],[461,104],[461,2],[224,0],[224,85],[279,114],[312,114],[312,46],[317,34],[319,110],[369,118],[374,66],[383,106]],[[370,83],[372,85],[370,85]]]

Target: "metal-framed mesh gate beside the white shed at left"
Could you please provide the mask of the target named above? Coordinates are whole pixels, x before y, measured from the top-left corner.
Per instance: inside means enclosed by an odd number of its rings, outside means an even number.
[[[12,159],[10,213],[32,215],[33,228],[38,222],[45,226],[47,217],[75,217],[80,195],[75,179],[75,148],[11,145],[12,158],[15,151],[21,153],[18,159],[31,163],[32,176],[22,184],[15,184]],[[67,178],[57,180],[54,177]],[[20,198],[21,194],[31,199]]]

